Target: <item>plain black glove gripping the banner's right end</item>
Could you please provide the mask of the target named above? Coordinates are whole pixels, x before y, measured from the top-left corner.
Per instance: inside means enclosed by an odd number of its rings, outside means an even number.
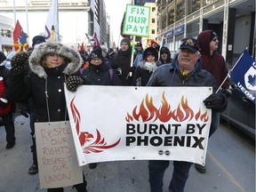
[[[219,110],[223,104],[225,104],[225,98],[219,93],[212,93],[208,98],[204,100],[204,105],[206,108]]]

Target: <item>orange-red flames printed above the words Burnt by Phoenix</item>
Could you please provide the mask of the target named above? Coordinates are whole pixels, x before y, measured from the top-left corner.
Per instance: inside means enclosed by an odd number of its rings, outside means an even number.
[[[185,99],[183,96],[181,97],[180,103],[178,108],[171,110],[171,105],[165,99],[164,92],[162,94],[162,106],[157,109],[153,104],[152,97],[148,97],[148,94],[140,103],[140,109],[137,112],[137,106],[132,110],[132,116],[127,112],[127,116],[125,120],[127,122],[132,122],[133,120],[143,122],[153,121],[155,122],[157,119],[161,122],[168,122],[173,119],[176,122],[184,122],[184,121],[191,121],[193,118],[197,120],[201,120],[202,122],[208,121],[207,110],[204,114],[201,114],[201,109],[196,113],[194,116],[194,111],[189,108],[188,100]]]

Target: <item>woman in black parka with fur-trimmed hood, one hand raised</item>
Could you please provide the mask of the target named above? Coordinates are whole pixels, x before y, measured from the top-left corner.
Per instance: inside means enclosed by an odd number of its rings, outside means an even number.
[[[35,122],[68,120],[64,83],[68,76],[77,73],[81,67],[83,59],[80,54],[60,43],[38,44],[29,57],[31,73],[25,76],[27,59],[28,54],[20,52],[11,60],[10,83],[13,99],[26,101],[31,98]],[[34,144],[36,145],[36,142]],[[37,164],[37,161],[35,163]],[[77,191],[84,192],[87,191],[86,185],[84,180],[74,187]],[[63,188],[48,188],[47,191],[59,192],[63,191]]]

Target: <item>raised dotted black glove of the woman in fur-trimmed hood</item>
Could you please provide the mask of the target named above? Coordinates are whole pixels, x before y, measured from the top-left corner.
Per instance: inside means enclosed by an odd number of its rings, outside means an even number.
[[[20,73],[25,69],[25,63],[28,60],[27,52],[18,52],[11,60],[12,71],[15,73]]]

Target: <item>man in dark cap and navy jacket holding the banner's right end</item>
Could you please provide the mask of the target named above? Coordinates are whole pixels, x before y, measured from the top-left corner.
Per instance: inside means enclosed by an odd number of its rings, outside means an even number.
[[[180,52],[172,60],[156,68],[147,86],[212,86],[213,93],[204,100],[206,108],[212,108],[212,113],[220,112],[227,107],[227,98],[222,92],[215,93],[217,84],[214,77],[199,67],[200,47],[195,38],[181,40]],[[195,87],[196,89],[196,87]],[[165,160],[150,160],[148,163],[149,183],[151,192],[163,191],[164,172],[170,162]],[[182,192],[188,180],[189,169],[193,163],[173,161],[170,192]]]

